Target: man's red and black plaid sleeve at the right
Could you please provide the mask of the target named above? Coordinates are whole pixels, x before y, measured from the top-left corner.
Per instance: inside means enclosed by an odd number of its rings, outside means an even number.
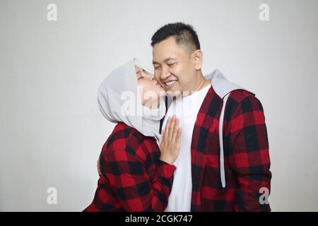
[[[246,94],[245,91],[243,94]],[[226,139],[230,146],[229,163],[237,175],[239,186],[235,211],[270,211],[267,199],[260,197],[264,191],[265,195],[269,195],[271,186],[269,142],[263,107],[251,94],[240,98],[231,94],[228,101],[230,115]]]

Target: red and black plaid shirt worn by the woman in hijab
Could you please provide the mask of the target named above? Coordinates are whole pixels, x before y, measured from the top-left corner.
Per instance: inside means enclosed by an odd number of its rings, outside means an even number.
[[[163,211],[175,166],[161,160],[155,138],[119,123],[102,147],[93,202],[84,211]]]

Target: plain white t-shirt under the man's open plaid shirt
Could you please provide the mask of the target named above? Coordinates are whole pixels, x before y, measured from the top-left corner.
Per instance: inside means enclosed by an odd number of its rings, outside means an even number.
[[[174,100],[163,121],[163,129],[167,119],[173,114],[179,119],[179,126],[182,128],[181,148],[177,160],[173,163],[177,169],[174,172],[172,190],[165,212],[189,212],[191,211],[192,198],[192,163],[191,143],[194,124],[197,114],[208,93],[211,85],[192,93],[187,97],[177,97]]]

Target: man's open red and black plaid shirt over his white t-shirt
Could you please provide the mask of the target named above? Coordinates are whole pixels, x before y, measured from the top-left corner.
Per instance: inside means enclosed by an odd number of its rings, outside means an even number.
[[[270,211],[260,189],[270,191],[269,142],[261,102],[235,90],[225,106],[223,146],[226,187],[220,182],[218,121],[223,100],[208,90],[192,137],[192,211]]]

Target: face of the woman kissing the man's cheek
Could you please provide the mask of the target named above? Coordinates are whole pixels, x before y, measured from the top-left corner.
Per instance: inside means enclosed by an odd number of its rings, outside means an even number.
[[[155,76],[147,71],[135,66],[136,76],[141,92],[142,104],[150,107],[159,102],[160,97],[165,95],[163,87],[155,80]]]

